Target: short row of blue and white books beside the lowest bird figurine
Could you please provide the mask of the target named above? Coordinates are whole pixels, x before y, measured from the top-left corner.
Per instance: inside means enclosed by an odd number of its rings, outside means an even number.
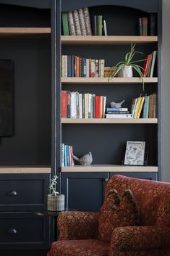
[[[61,167],[73,166],[73,151],[72,146],[61,144]]]

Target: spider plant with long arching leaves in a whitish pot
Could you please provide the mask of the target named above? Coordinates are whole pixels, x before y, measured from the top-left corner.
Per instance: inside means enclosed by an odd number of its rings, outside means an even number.
[[[135,51],[136,44],[131,43],[130,51],[125,55],[125,59],[122,62],[117,63],[114,67],[111,67],[109,72],[109,80],[114,78],[116,75],[121,78],[132,78],[133,72],[132,70],[136,70],[140,75],[140,78],[143,82],[143,90],[144,90],[144,81],[143,81],[143,67],[137,65],[137,62],[143,62],[145,59],[132,61],[135,54],[143,54],[143,52]]]

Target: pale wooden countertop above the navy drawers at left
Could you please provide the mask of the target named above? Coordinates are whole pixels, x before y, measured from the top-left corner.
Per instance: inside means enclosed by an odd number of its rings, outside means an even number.
[[[51,173],[51,167],[46,165],[1,165],[0,174],[30,174],[30,173]]]

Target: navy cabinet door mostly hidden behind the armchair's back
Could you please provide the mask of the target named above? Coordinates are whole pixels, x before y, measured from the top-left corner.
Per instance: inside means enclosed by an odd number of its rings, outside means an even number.
[[[146,180],[157,181],[157,173],[110,173],[110,178],[116,174],[132,178],[145,178]]]

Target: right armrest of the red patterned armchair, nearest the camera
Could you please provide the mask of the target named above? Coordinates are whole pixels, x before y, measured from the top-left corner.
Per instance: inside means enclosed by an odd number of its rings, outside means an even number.
[[[109,255],[113,255],[115,250],[117,252],[168,247],[170,247],[170,228],[166,226],[128,226],[114,229],[111,235]]]

